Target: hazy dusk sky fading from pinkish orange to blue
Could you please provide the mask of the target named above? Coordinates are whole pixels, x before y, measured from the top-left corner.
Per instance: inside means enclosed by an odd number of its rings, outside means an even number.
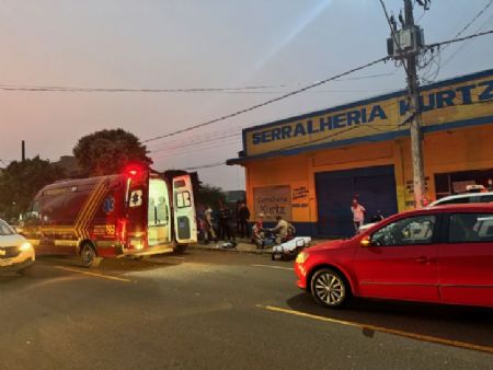
[[[490,0],[434,0],[416,22],[426,43],[450,39]],[[397,15],[402,0],[387,0]],[[489,7],[463,32],[493,28]],[[57,161],[95,130],[122,127],[141,140],[194,126],[323,80],[387,54],[378,0],[4,0],[0,84],[105,89],[272,85],[236,92],[0,91],[0,159]],[[437,81],[493,68],[493,36],[447,47],[421,76]],[[234,119],[148,142],[157,170],[237,157],[241,128],[378,95],[405,85],[381,63]],[[391,74],[390,74],[391,73]],[[214,140],[215,139],[215,140]],[[214,140],[214,141],[206,141]],[[2,162],[0,162],[0,166]],[[199,170],[225,189],[244,188],[240,166]]]

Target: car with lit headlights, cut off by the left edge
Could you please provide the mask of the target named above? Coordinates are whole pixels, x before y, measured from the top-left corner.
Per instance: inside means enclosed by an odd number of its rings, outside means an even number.
[[[0,219],[0,273],[24,273],[36,259],[33,245]]]

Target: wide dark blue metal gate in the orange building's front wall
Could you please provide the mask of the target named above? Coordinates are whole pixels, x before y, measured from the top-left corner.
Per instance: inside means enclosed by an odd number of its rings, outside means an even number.
[[[378,210],[385,217],[398,211],[393,165],[320,172],[316,188],[319,235],[354,234],[351,203],[355,195],[366,208],[366,222]]]

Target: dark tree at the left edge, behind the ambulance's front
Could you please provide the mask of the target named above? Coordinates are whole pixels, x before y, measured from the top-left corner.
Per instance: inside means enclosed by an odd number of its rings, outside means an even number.
[[[0,174],[0,217],[11,220],[27,210],[36,193],[64,178],[64,170],[35,157],[11,162]]]

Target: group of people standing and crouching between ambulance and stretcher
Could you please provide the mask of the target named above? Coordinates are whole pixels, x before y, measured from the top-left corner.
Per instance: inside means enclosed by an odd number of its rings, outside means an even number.
[[[215,212],[210,206],[206,207],[199,218],[204,244],[219,240],[236,243],[236,235],[249,238],[257,247],[280,244],[295,234],[295,227],[283,217],[277,216],[274,228],[264,228],[264,215],[259,213],[257,219],[250,226],[250,210],[245,203],[240,203],[237,210],[237,230],[231,228],[231,211],[227,205],[221,204]]]

